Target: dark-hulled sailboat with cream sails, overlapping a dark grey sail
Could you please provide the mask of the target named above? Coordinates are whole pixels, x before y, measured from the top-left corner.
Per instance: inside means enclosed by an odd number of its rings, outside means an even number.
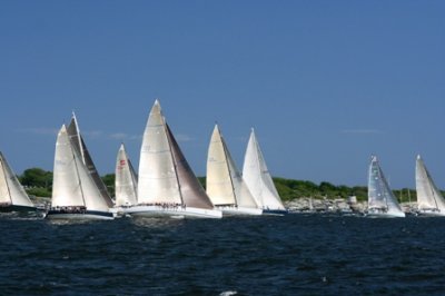
[[[112,219],[100,193],[63,125],[57,136],[49,219]]]

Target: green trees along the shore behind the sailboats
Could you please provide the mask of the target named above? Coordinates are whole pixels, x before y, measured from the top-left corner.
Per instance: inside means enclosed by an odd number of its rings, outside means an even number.
[[[30,168],[18,176],[19,181],[23,185],[29,195],[39,197],[50,197],[52,191],[52,171],[43,170],[41,168]],[[103,184],[108,188],[111,196],[115,196],[115,174],[107,174],[101,177]],[[198,177],[200,184],[206,186],[206,178]],[[286,178],[274,178],[275,186],[279,196],[284,201],[293,200],[301,197],[313,198],[348,198],[356,196],[357,200],[367,200],[367,187],[346,185],[333,185],[328,181],[315,184],[308,180],[295,180]],[[399,201],[415,201],[416,191],[409,188],[402,188],[393,190],[394,195]]]

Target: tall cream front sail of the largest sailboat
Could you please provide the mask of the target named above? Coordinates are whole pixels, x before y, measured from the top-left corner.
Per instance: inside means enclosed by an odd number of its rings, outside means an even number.
[[[138,204],[182,204],[159,101],[150,110],[139,159]]]

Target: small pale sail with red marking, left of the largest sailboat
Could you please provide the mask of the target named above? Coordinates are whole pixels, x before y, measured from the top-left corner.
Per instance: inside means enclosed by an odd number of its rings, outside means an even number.
[[[136,205],[137,190],[138,180],[136,171],[123,144],[121,144],[116,159],[116,206]]]

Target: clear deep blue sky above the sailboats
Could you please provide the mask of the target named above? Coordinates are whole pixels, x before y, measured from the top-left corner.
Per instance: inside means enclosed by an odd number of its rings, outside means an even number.
[[[101,175],[138,167],[164,114],[198,176],[217,121],[241,168],[255,127],[274,176],[366,185],[376,154],[414,188],[416,154],[445,188],[444,1],[0,2],[0,150],[52,170],[75,110]]]

